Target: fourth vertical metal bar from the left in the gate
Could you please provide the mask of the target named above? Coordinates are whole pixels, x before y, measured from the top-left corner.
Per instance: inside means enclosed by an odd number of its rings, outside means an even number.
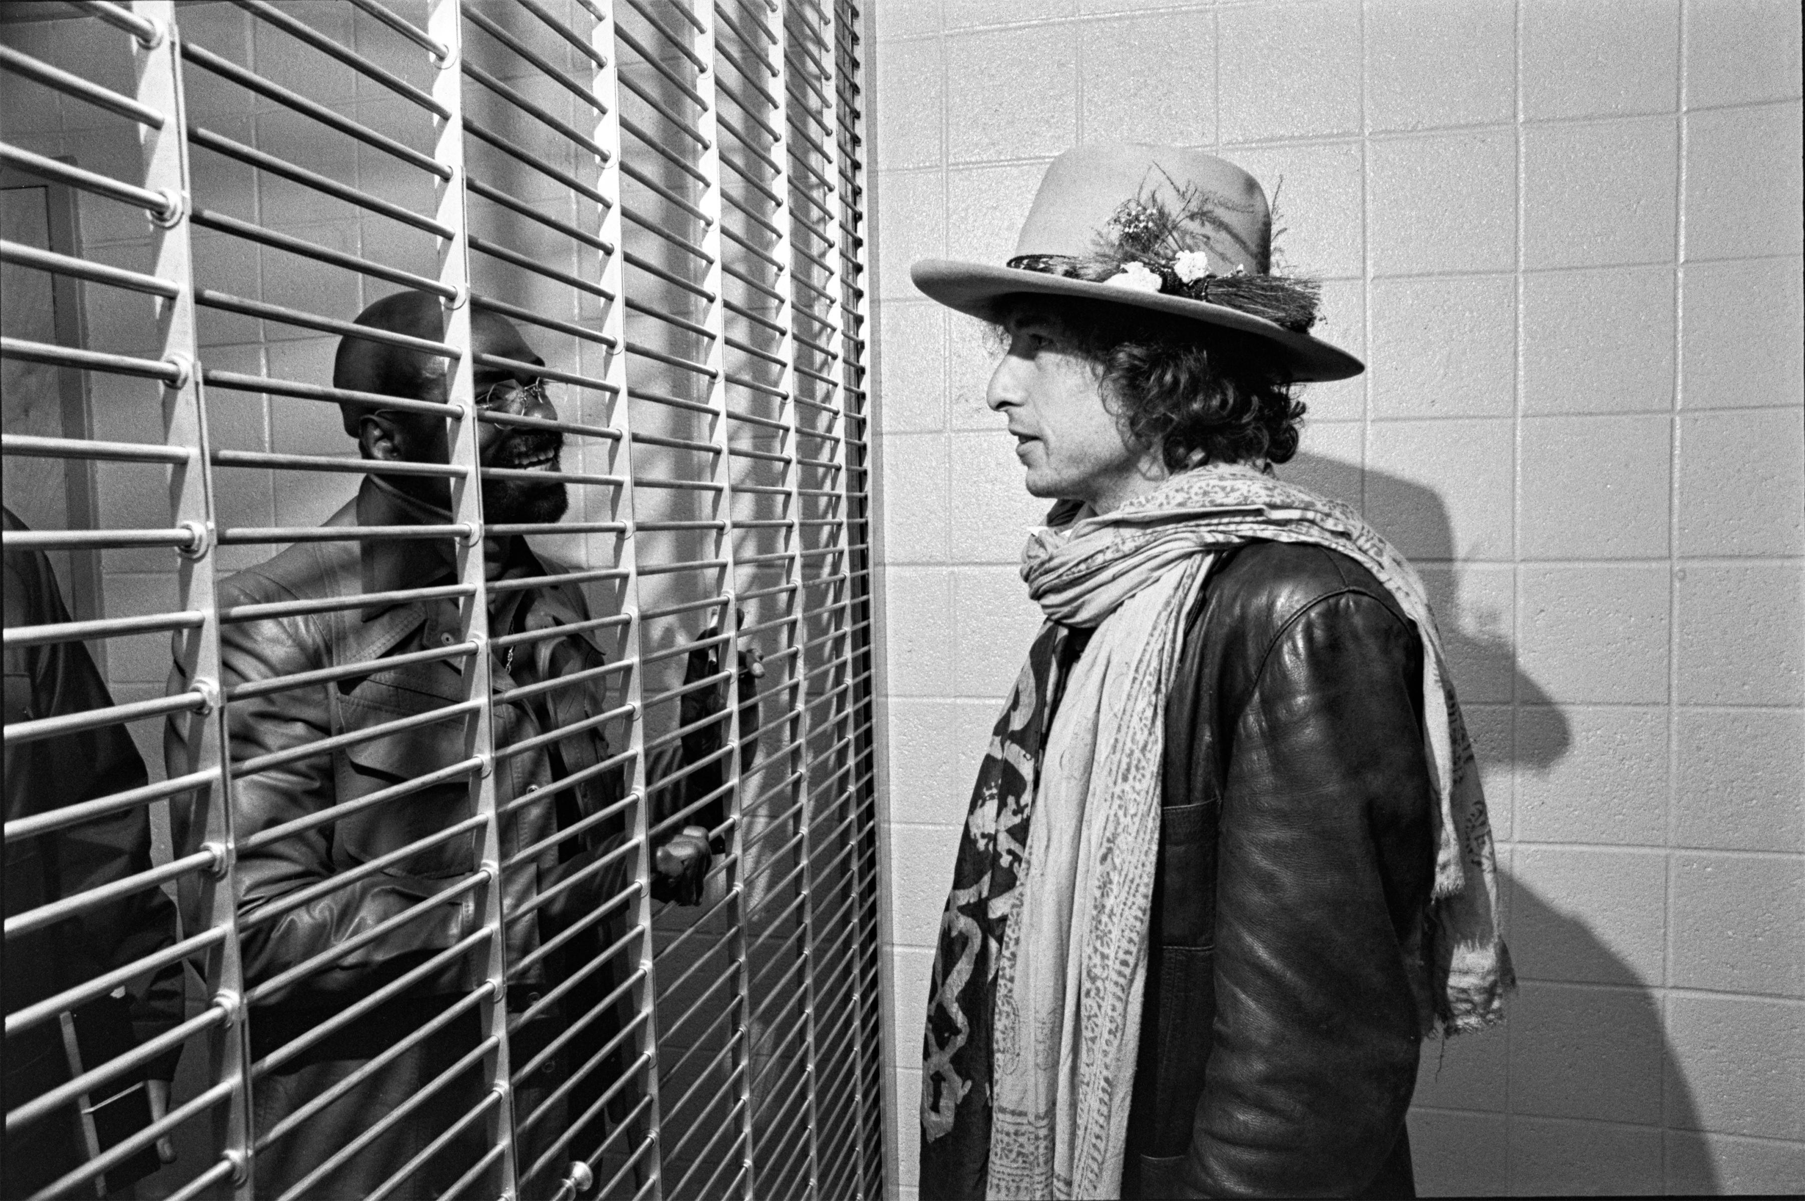
[[[708,379],[708,408],[713,411],[715,433],[709,438],[718,449],[715,458],[715,483],[720,485],[720,512],[717,518],[722,521],[718,557],[726,563],[722,568],[722,577],[727,586],[722,597],[720,613],[720,631],[726,635],[722,642],[720,662],[727,669],[727,763],[726,774],[729,781],[727,801],[733,811],[733,849],[729,855],[735,858],[733,869],[733,891],[738,896],[736,911],[738,921],[735,921],[735,931],[740,940],[740,985],[736,990],[736,1004],[740,1006],[740,1046],[735,1051],[735,1059],[740,1064],[740,1122],[744,1125],[740,1136],[744,1140],[744,1163],[745,1169],[740,1174],[744,1181],[745,1201],[753,1201],[753,1042],[754,1031],[751,1028],[753,1004],[751,1004],[751,936],[747,932],[747,909],[745,909],[745,860],[742,858],[742,849],[745,846],[745,808],[740,788],[740,736],[751,730],[740,730],[740,673],[738,673],[738,646],[740,646],[740,610],[738,610],[738,570],[735,564],[735,523],[733,523],[733,454],[727,449],[729,444],[729,422],[727,422],[727,308],[724,303],[726,294],[726,274],[722,272],[722,198],[720,198],[720,123],[718,123],[718,105],[715,87],[715,65],[718,56],[715,54],[715,4],[713,0],[691,0],[691,14],[695,18],[695,56],[704,63],[697,69],[697,92],[702,96],[702,114],[697,117],[695,130],[702,137],[702,153],[697,162],[697,170],[706,180],[702,186],[702,198],[697,206],[704,215],[702,229],[702,254],[708,256],[708,270],[702,278],[702,289],[708,292],[708,312],[702,317],[702,326],[708,330],[706,357],[704,366],[709,370]]]

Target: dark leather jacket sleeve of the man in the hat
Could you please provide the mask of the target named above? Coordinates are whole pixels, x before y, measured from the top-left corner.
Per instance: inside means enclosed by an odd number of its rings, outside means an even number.
[[[1220,718],[1217,1015],[1191,1196],[1357,1194],[1397,1140],[1426,893],[1386,880],[1430,869],[1419,694],[1415,629],[1341,591],[1280,631],[1240,716]]]

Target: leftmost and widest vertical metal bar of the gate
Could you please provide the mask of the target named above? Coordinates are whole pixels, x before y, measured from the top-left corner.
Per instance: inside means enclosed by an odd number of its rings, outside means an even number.
[[[162,359],[179,364],[180,375],[162,393],[164,442],[190,451],[186,465],[170,471],[170,510],[177,525],[200,534],[195,548],[180,555],[177,595],[184,610],[202,615],[199,629],[177,642],[179,665],[190,687],[211,698],[208,711],[190,725],[193,770],[218,770],[227,761],[226,705],[220,700],[220,626],[215,599],[217,519],[213,469],[209,465],[208,409],[200,390],[200,355],[195,332],[195,267],[188,215],[193,207],[188,166],[188,114],[182,92],[182,56],[173,0],[141,0],[135,16],[153,23],[161,36],[146,45],[135,40],[137,99],[164,114],[161,130],[139,128],[144,151],[144,186],[170,198],[164,213],[152,215],[152,270],[177,285],[177,294],[157,299]],[[220,770],[204,804],[202,844],[218,862],[200,882],[200,905],[211,929],[226,938],[208,954],[206,981],[211,1003],[233,1021],[211,1037],[211,1071],[217,1084],[231,1082],[231,1104],[215,1109],[215,1141],[233,1165],[233,1188],[240,1201],[251,1197],[251,1055],[244,1008],[244,972],[238,958],[238,903],[233,887],[236,837],[233,831],[231,774]]]

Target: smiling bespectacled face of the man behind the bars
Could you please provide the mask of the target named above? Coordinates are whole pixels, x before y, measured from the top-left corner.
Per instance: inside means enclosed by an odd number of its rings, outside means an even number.
[[[475,314],[471,317],[471,346],[477,355],[495,355],[514,359],[516,362],[543,364],[525,339],[511,323],[495,314]],[[428,375],[421,380],[419,400],[444,402],[449,390],[449,362],[433,359]],[[538,417],[556,420],[558,409],[547,399],[538,377],[523,370],[475,364],[475,397],[480,409],[493,413],[513,413],[518,417]],[[388,413],[393,429],[395,449],[403,460],[415,463],[449,462],[451,447],[446,436],[446,422],[424,413]],[[560,451],[563,435],[554,429],[527,429],[520,426],[498,426],[493,422],[477,424],[477,453],[484,467],[505,467],[511,471],[543,472],[547,480],[484,480],[482,512],[486,521],[556,521],[565,514],[570,501],[565,483],[558,478]],[[397,478],[413,481],[412,476]],[[422,500],[440,507],[449,505],[449,485],[442,480],[417,478],[426,489]]]

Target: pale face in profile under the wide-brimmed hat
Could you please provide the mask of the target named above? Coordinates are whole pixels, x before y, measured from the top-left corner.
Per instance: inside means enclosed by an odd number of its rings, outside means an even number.
[[[1141,454],[1103,406],[1096,368],[1061,346],[1049,317],[1011,316],[1004,332],[1009,350],[991,373],[986,404],[1009,418],[1029,494],[1114,509],[1114,498],[1139,480]]]

